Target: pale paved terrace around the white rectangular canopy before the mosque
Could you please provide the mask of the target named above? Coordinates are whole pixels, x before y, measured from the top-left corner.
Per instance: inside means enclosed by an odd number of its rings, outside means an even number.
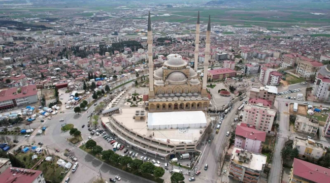
[[[155,129],[148,130],[148,116],[150,113],[147,113],[145,120],[136,120],[133,119],[133,116],[136,113],[136,110],[140,108],[121,108],[121,114],[112,115],[119,123],[124,125],[127,129],[135,131],[138,134],[149,136],[154,135],[152,138],[167,142],[168,139],[174,144],[179,144],[181,142],[193,142],[199,140],[201,137],[200,131],[205,130],[205,128],[184,128],[184,129]],[[202,111],[201,111],[202,112]],[[155,112],[154,112],[155,113]],[[169,115],[171,112],[159,112],[164,115]],[[205,113],[202,112],[205,117]],[[205,117],[205,120],[207,118]]]

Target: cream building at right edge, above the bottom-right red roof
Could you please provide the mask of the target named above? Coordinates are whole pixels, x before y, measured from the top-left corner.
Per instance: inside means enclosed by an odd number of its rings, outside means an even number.
[[[326,153],[326,149],[323,147],[323,144],[315,142],[315,140],[311,138],[304,139],[294,137],[293,148],[297,148],[299,150],[300,158],[312,158],[318,160]]]

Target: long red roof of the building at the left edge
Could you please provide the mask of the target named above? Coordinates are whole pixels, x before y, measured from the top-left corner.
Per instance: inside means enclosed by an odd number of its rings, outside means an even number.
[[[21,97],[37,95],[38,90],[37,90],[37,86],[33,84],[33,85],[22,86],[21,93],[14,95],[15,93],[17,93],[17,87],[12,87],[7,90],[2,90],[0,92],[0,102],[13,100]]]

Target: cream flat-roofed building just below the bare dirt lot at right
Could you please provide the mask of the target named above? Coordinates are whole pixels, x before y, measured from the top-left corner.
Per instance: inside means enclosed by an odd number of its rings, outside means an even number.
[[[307,133],[309,136],[315,136],[318,130],[318,121],[313,118],[297,115],[294,121],[294,130]]]

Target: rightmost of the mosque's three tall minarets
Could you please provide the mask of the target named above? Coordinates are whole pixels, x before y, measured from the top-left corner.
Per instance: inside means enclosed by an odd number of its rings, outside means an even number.
[[[205,45],[205,60],[204,60],[204,76],[203,76],[203,88],[201,95],[202,97],[207,97],[208,93],[206,91],[206,84],[207,84],[207,78],[208,78],[208,68],[209,68],[209,54],[210,54],[210,36],[211,36],[211,16],[209,15],[209,23],[208,28],[206,30],[206,45]]]

